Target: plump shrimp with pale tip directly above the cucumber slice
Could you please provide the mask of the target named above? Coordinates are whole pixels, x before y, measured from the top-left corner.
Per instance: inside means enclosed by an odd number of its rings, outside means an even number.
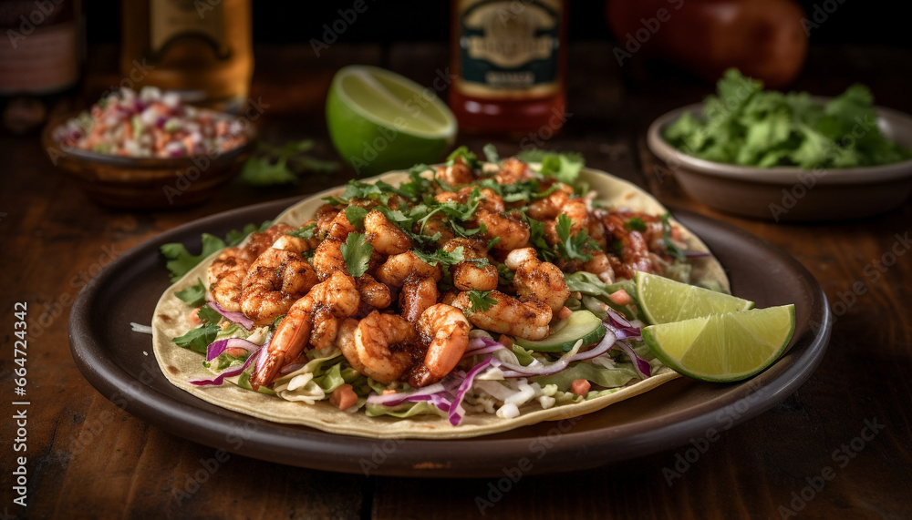
[[[570,297],[564,272],[553,263],[538,260],[534,249],[512,250],[503,263],[516,271],[513,285],[521,298],[544,301],[554,312],[564,307]]]

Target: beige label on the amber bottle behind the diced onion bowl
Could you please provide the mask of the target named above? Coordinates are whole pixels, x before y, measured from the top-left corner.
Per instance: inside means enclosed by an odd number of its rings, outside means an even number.
[[[181,36],[202,36],[212,45],[220,59],[231,56],[231,47],[225,42],[224,8],[221,2],[193,0],[150,0],[151,56],[159,59],[165,47]]]

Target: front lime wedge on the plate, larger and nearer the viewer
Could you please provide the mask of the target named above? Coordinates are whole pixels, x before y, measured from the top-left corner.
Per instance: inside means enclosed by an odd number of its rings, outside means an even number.
[[[643,341],[675,372],[702,381],[731,382],[776,361],[794,328],[794,305],[782,305],[650,325],[643,329]]]

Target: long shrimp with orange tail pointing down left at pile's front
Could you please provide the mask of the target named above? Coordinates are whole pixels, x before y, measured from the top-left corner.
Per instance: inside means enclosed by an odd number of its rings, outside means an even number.
[[[269,342],[266,358],[250,378],[254,390],[275,379],[279,370],[304,351],[311,341],[311,332],[320,331],[324,340],[332,332],[335,340],[338,319],[347,318],[361,303],[355,281],[342,272],[317,283],[304,298],[295,301],[285,318],[275,329]],[[375,311],[376,312],[376,311]]]

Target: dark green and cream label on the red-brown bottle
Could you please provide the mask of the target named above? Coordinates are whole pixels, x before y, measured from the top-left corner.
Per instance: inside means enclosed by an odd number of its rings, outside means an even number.
[[[497,98],[554,94],[561,9],[561,0],[461,0],[460,90]]]

